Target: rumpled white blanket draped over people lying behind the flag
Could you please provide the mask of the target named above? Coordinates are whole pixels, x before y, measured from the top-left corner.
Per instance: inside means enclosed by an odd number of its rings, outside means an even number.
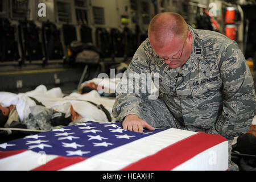
[[[112,107],[115,101],[114,99],[101,97],[96,90],[92,90],[88,94],[84,95],[72,93],[69,96],[63,97],[64,94],[61,92],[60,88],[47,90],[46,86],[39,85],[35,90],[31,90],[26,93],[14,94],[9,92],[0,92],[0,104],[3,107],[16,105],[20,121],[22,122],[23,119],[28,117],[28,114],[31,112],[30,107],[36,105],[28,96],[42,102],[42,104],[47,108],[52,108],[61,112],[66,111],[66,117],[70,114],[69,106],[72,104],[73,109],[82,115],[85,121],[90,120],[97,122],[108,122],[108,118],[102,110],[86,101],[92,101],[96,104],[104,105],[110,115],[112,115]]]

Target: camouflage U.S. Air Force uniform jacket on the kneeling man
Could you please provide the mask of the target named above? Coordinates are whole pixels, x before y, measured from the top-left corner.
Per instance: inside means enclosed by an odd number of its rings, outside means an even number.
[[[192,53],[180,74],[159,60],[147,38],[125,75],[159,73],[158,89],[179,129],[226,138],[246,133],[254,117],[255,90],[245,57],[236,42],[218,32],[189,30]],[[117,93],[114,117],[122,121],[128,114],[139,116],[147,99],[148,94]]]

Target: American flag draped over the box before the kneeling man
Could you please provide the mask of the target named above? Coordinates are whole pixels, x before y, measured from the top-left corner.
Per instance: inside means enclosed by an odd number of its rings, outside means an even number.
[[[179,129],[88,121],[0,144],[0,170],[226,170],[228,141]]]

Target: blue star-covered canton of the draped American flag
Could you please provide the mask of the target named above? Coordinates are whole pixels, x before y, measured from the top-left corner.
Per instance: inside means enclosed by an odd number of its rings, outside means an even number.
[[[37,135],[0,144],[1,151],[44,151],[47,155],[90,158],[163,130],[135,133],[122,129],[122,123],[99,123],[88,121],[54,129]]]

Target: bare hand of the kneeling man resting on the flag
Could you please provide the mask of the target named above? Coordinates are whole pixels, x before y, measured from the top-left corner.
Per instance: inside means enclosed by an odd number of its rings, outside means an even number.
[[[123,120],[123,129],[143,133],[143,128],[148,130],[155,130],[154,127],[148,125],[148,123],[135,114],[126,115]]]

